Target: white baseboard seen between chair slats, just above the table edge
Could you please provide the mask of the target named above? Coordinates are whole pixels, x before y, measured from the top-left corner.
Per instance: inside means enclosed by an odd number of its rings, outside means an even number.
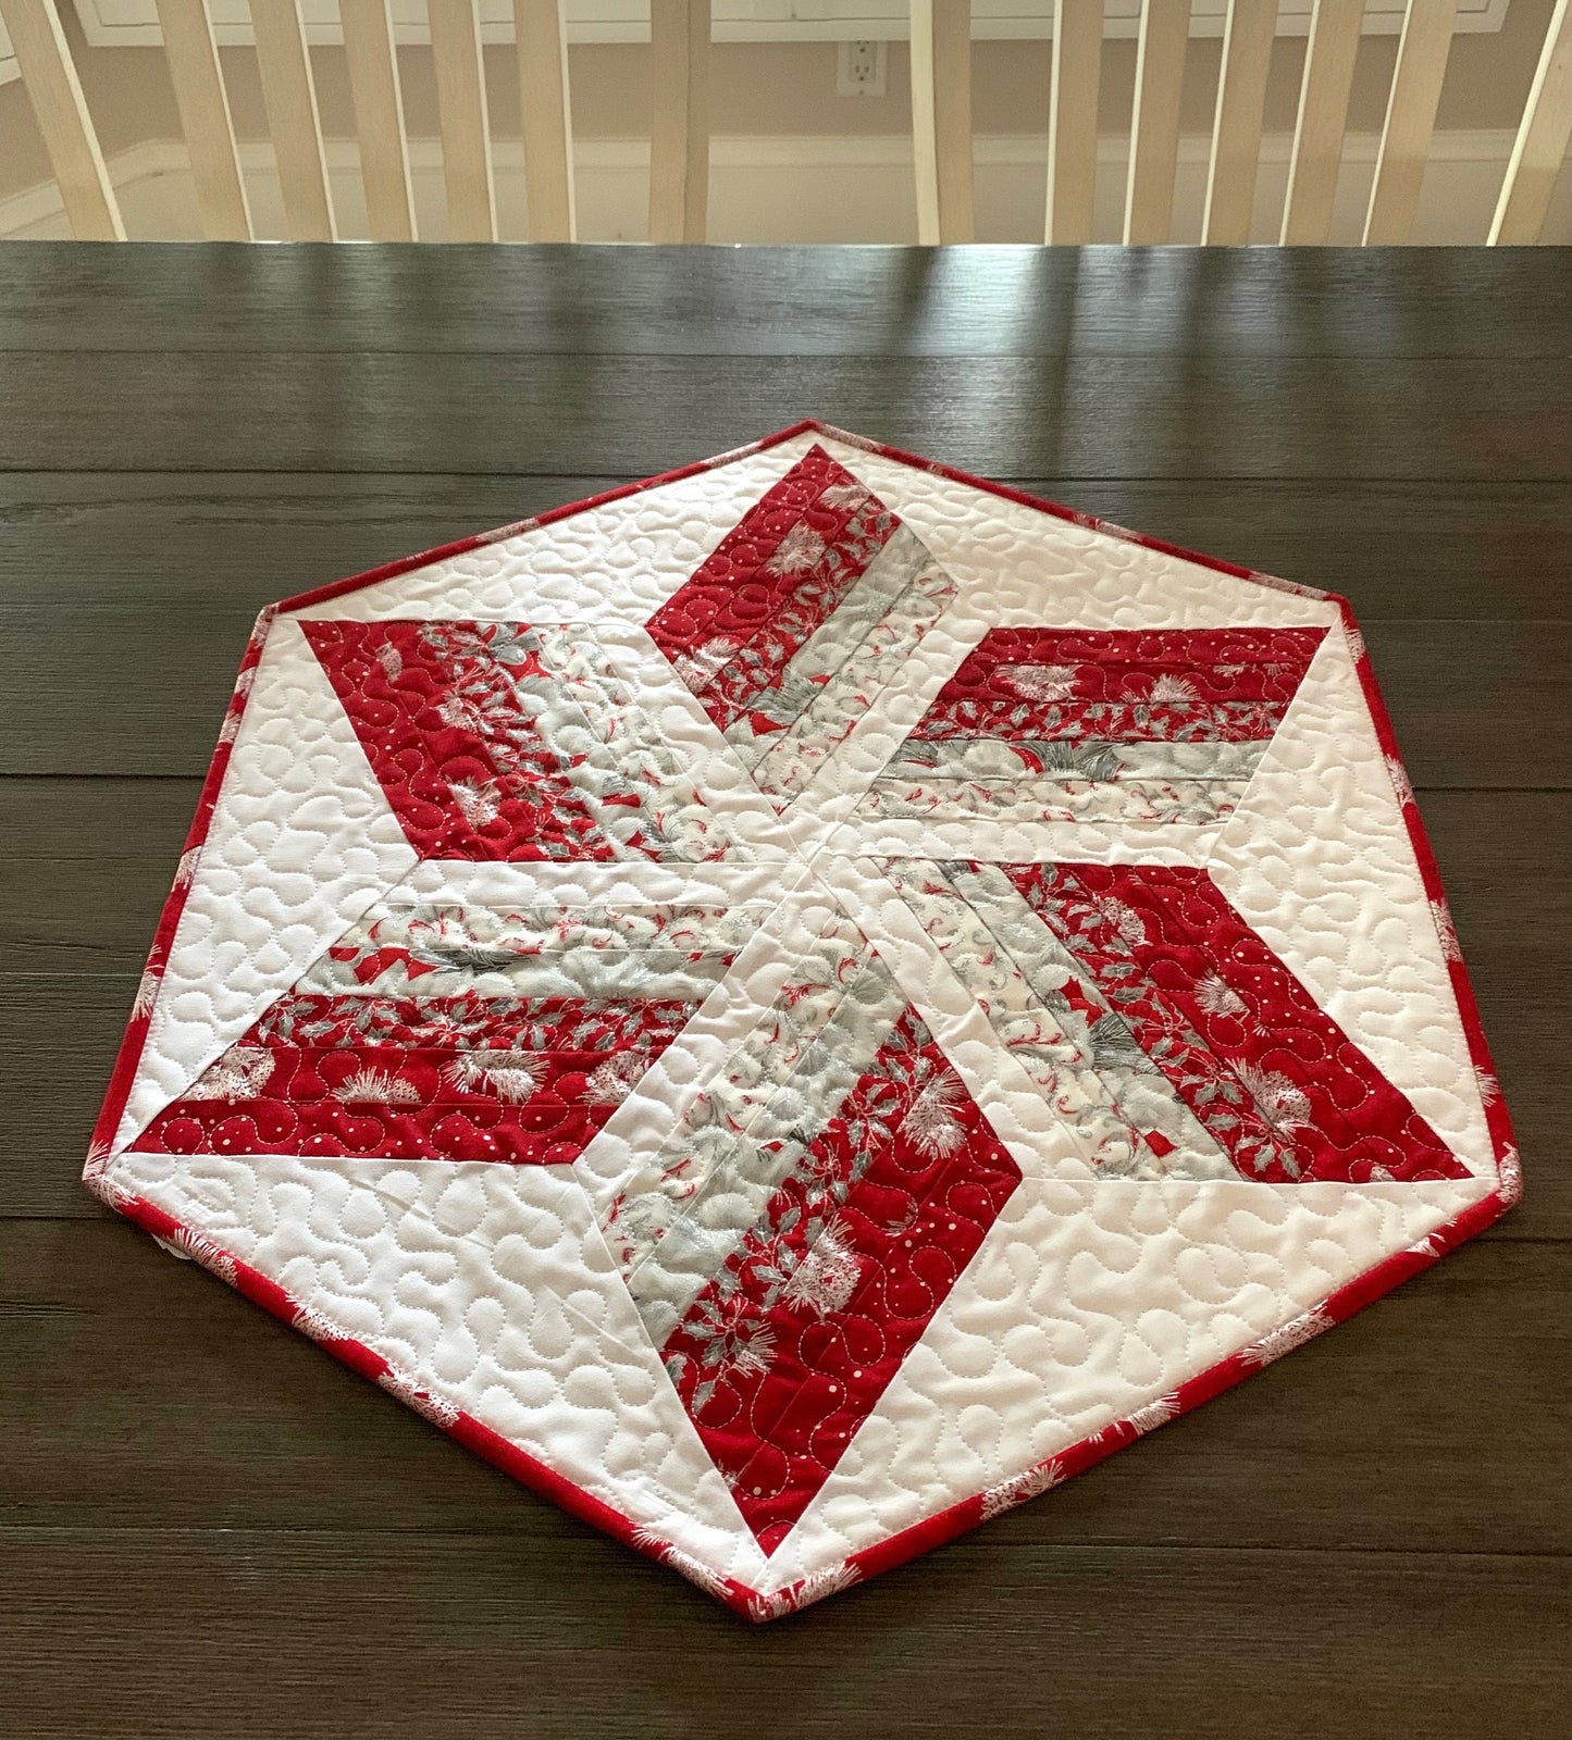
[[[1377,137],[1351,134],[1344,143],[1334,242],[1358,242],[1375,167]],[[1414,242],[1481,242],[1490,226],[1501,177],[1511,155],[1508,130],[1436,134]],[[1288,181],[1292,141],[1262,141],[1255,190],[1253,242],[1274,242]],[[1196,242],[1206,190],[1210,141],[1180,141],[1173,197],[1173,240]],[[1116,240],[1125,193],[1128,139],[1098,141],[1097,237]],[[442,150],[435,139],[409,148],[420,233],[446,235]],[[977,233],[984,242],[1041,240],[1046,141],[1031,136],[982,136],[975,151]],[[493,148],[498,223],[505,238],[524,238],[524,160],[517,141]],[[644,139],[585,139],[574,150],[578,226],[585,242],[644,240],[649,146]],[[252,221],[263,238],[284,235],[279,177],[270,144],[240,148]],[[108,164],[125,228],[136,240],[198,240],[202,235],[186,148],[150,139],[118,151]],[[327,171],[339,230],[366,235],[359,151],[353,139],[327,141]],[[710,143],[712,242],[912,242],[912,143],[895,134],[717,137]],[[0,237],[68,235],[52,183],[0,200]],[[1546,242],[1572,240],[1572,202],[1563,167],[1546,223]]]

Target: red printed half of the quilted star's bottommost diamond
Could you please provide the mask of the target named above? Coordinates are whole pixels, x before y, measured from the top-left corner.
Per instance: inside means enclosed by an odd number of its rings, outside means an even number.
[[[766,1552],[829,1479],[1018,1181],[907,1009],[663,1348]]]

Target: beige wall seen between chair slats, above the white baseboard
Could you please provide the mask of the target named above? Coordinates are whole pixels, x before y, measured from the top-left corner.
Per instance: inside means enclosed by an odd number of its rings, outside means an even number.
[[[1511,0],[1497,33],[1459,35],[1447,66],[1438,127],[1443,130],[1515,127],[1534,77],[1555,0]],[[178,139],[179,118],[158,49],[89,49],[75,9],[61,3],[77,54],[82,87],[104,153],[144,139]],[[1184,130],[1210,132],[1217,87],[1217,38],[1189,45],[1184,80]],[[907,50],[890,45],[884,97],[836,96],[834,44],[714,45],[710,71],[715,134],[905,134],[910,130]],[[1367,37],[1360,47],[1349,127],[1377,132],[1391,84],[1394,37]],[[637,137],[649,125],[648,56],[642,44],[580,44],[571,50],[574,132],[583,139]],[[221,50],[225,78],[242,139],[265,139],[266,117],[251,49]],[[1288,132],[1299,101],[1304,38],[1280,37],[1267,92],[1267,132]],[[322,127],[329,137],[353,136],[353,110],[343,50],[312,50]],[[425,47],[400,49],[399,70],[411,137],[435,137],[437,94]],[[1135,44],[1104,45],[1100,132],[1126,134],[1135,82]],[[486,50],[491,129],[519,134],[519,89],[512,47]],[[973,45],[973,125],[978,134],[1046,132],[1048,44],[977,42]],[[0,197],[49,181],[31,110],[19,84],[0,87]]]

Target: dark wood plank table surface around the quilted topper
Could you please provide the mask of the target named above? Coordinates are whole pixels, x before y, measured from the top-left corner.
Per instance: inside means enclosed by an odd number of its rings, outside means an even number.
[[[0,249],[0,1731],[1560,1731],[1567,266]],[[258,607],[801,416],[1353,597],[1528,1195],[1055,1496],[750,1630],[77,1173]]]

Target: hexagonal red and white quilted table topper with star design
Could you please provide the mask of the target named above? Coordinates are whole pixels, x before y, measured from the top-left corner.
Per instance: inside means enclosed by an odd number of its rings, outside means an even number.
[[[1520,1190],[1347,606],[820,425],[263,612],[85,1176],[752,1618]]]

